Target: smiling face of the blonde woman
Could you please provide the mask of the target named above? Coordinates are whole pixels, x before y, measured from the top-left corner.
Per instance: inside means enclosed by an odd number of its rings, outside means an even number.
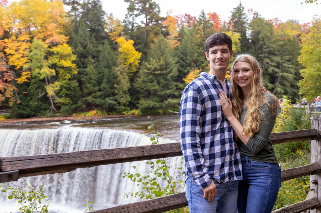
[[[249,88],[254,79],[251,65],[243,61],[236,62],[233,68],[233,79],[242,89]]]

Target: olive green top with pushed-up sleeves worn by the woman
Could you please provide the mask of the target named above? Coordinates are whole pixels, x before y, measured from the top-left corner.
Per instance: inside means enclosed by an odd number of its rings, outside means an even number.
[[[267,93],[263,92],[263,98],[268,102],[270,106],[274,103],[273,97]],[[241,140],[236,140],[239,147],[241,155],[247,156],[253,161],[267,162],[267,163],[277,163],[278,159],[275,156],[274,148],[272,142],[269,140],[275,119],[277,116],[276,108],[273,109],[267,106],[265,103],[261,103],[260,110],[263,113],[262,122],[259,124],[259,131],[256,132],[248,141],[247,145],[244,145]],[[240,123],[243,124],[245,115],[247,113],[247,107],[243,109]]]

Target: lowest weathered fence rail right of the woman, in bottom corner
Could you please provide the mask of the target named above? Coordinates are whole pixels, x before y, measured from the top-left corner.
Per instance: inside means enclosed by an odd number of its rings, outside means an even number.
[[[299,213],[308,209],[313,209],[316,206],[320,205],[320,202],[317,198],[310,198],[304,201],[293,203],[289,206],[282,207],[281,209],[276,209],[272,213]]]

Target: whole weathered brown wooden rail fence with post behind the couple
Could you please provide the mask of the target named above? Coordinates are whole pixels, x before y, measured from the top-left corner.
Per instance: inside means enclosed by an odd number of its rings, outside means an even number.
[[[311,163],[308,165],[282,170],[282,181],[310,175],[309,197],[292,205],[274,210],[273,213],[302,212],[310,210],[321,213],[321,115],[311,122],[311,129],[272,133],[273,144],[300,140],[311,140]],[[179,143],[148,146],[98,149],[58,154],[41,154],[31,156],[0,157],[0,183],[16,181],[18,178],[69,172],[78,168],[92,167],[113,163],[152,160],[182,155]],[[318,184],[320,183],[320,184]],[[151,200],[118,205],[108,209],[91,211],[103,212],[164,212],[187,206],[185,193],[154,198]]]

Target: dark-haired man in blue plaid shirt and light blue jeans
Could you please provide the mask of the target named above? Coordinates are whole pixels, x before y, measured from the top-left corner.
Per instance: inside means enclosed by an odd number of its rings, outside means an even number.
[[[180,141],[185,159],[189,212],[236,212],[242,179],[233,129],[221,111],[219,94],[231,99],[225,75],[232,58],[232,40],[215,33],[205,41],[210,71],[189,83],[180,101]]]

